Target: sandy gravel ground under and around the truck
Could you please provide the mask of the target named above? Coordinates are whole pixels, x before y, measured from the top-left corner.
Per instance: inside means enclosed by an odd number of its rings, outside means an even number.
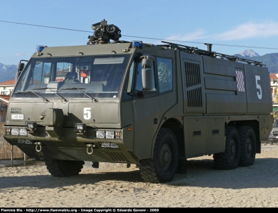
[[[278,144],[262,143],[251,167],[213,169],[213,157],[188,160],[172,182],[143,182],[135,165],[100,163],[79,176],[51,176],[44,162],[0,168],[1,207],[278,207]]]

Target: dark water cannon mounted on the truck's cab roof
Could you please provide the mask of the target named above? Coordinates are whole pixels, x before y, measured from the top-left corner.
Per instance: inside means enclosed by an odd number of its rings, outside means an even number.
[[[87,44],[108,44],[110,40],[118,41],[122,37],[120,28],[114,24],[107,24],[105,19],[92,24],[91,28],[95,32],[93,35],[88,36],[89,41]]]

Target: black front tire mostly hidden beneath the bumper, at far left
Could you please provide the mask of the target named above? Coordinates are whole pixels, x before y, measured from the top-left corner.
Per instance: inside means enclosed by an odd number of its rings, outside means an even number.
[[[47,159],[47,170],[52,176],[70,177],[77,176],[83,168],[83,161]]]

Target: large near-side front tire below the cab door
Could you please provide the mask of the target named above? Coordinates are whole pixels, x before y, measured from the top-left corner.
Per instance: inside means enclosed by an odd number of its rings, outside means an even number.
[[[168,128],[161,128],[154,144],[154,157],[140,160],[140,174],[145,182],[170,182],[177,171],[177,138]]]

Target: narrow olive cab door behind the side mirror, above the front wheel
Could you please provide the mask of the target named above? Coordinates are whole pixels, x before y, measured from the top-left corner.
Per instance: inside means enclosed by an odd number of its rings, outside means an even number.
[[[142,62],[136,63],[133,96],[134,153],[141,159],[152,157],[152,141],[158,128],[159,97],[152,63],[152,90],[143,90]]]

